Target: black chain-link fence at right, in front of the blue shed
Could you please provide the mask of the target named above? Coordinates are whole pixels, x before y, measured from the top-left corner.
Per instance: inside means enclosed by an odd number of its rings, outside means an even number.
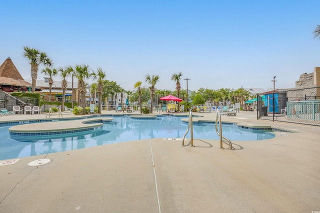
[[[257,95],[257,117],[320,126],[320,87],[278,89]]]

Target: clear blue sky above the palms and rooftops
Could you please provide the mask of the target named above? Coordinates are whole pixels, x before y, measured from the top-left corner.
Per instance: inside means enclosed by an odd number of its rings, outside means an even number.
[[[0,63],[9,56],[24,79],[23,46],[46,52],[54,67],[102,67],[124,89],[158,74],[156,88],[174,90],[176,72],[191,90],[268,89],[274,75],[275,87],[291,88],[320,66],[319,0],[6,0],[1,8]]]

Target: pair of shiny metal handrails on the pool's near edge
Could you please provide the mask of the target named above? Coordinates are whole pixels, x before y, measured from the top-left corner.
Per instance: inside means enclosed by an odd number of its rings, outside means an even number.
[[[217,123],[219,123],[219,130],[218,130],[218,127],[217,127]],[[190,146],[194,147],[194,145],[193,145],[193,122],[192,122],[192,111],[191,110],[189,111],[188,127],[187,127],[186,132],[184,133],[184,135],[182,137],[181,146],[185,146],[184,145],[184,138],[185,138],[186,134],[189,132],[189,130],[190,130]],[[234,150],[234,148],[232,147],[231,141],[228,138],[222,136],[222,123],[221,123],[221,114],[220,114],[220,112],[216,113],[215,131],[216,131],[217,135],[219,135],[220,146],[218,148],[224,149],[223,146],[222,146],[222,142],[223,142],[223,139],[224,139],[224,141],[228,142],[228,144],[229,144],[228,149]]]

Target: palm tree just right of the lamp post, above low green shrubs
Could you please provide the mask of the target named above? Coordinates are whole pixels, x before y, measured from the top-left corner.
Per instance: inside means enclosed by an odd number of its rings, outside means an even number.
[[[81,104],[80,106],[84,109],[85,108],[85,79],[89,78],[91,73],[89,72],[89,65],[75,65],[75,77],[78,79],[78,90],[80,93]],[[85,113],[85,110],[83,110]]]

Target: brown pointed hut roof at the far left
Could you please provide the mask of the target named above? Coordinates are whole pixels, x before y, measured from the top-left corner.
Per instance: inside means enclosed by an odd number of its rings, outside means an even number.
[[[0,65],[0,84],[2,85],[14,85],[14,86],[26,86],[31,87],[32,84],[25,81],[13,64],[10,57]]]

